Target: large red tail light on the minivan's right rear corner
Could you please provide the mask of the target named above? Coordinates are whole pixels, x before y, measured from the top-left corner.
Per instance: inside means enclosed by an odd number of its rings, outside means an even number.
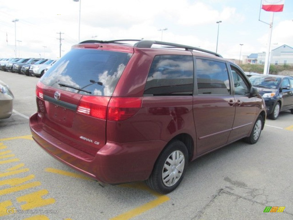
[[[124,121],[136,114],[141,105],[141,97],[83,96],[77,112],[98,119]]]

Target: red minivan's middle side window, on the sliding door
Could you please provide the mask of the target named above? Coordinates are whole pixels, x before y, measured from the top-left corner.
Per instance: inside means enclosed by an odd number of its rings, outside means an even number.
[[[226,63],[196,59],[198,94],[229,95],[230,85]]]

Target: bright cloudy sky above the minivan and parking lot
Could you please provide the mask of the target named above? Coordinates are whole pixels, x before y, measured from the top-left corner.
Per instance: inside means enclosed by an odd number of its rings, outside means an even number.
[[[80,9],[80,41],[143,38],[216,52],[219,30],[217,52],[242,59],[266,51],[272,12],[260,6],[261,0],[0,0],[0,58],[15,57],[16,45],[16,57],[56,59],[60,32],[64,55],[78,43]],[[274,13],[272,49],[293,47],[292,20],[293,1],[285,0]]]

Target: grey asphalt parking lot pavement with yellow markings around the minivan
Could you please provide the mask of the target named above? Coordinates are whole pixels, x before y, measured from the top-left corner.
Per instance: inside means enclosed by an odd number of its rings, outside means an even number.
[[[31,138],[39,80],[0,71],[14,113],[0,120],[3,219],[293,219],[293,115],[266,120],[255,145],[238,141],[189,164],[167,195],[143,182],[100,186],[55,160]],[[285,207],[265,213],[266,207]]]

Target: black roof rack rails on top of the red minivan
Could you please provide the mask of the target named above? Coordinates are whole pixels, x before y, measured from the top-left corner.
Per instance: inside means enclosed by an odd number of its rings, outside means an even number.
[[[119,43],[119,44],[121,44],[121,42],[123,42],[123,41],[137,41],[137,43],[135,43],[133,45],[136,48],[151,48],[152,45],[157,44],[157,45],[167,46],[167,47],[164,47],[164,48],[183,48],[183,49],[188,50],[188,51],[197,50],[197,51],[200,51],[200,52],[215,55],[217,57],[222,57],[218,53],[215,53],[215,52],[212,52],[212,51],[209,51],[209,50],[204,50],[204,49],[201,49],[201,48],[191,47],[191,46],[177,44],[177,43],[168,43],[168,42],[163,42],[163,41],[156,41],[156,40],[137,40],[137,39],[107,40],[107,41],[103,41],[103,40],[86,40],[86,41],[83,41],[83,42],[80,42],[80,43]],[[126,44],[126,43],[122,43],[122,44]]]

